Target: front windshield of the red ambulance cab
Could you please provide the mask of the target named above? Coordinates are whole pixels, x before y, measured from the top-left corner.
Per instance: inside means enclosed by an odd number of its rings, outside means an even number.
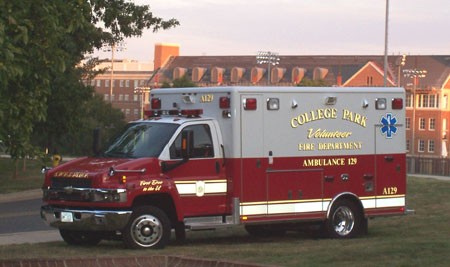
[[[130,124],[106,149],[104,155],[120,158],[158,157],[177,128],[177,124],[169,123]]]

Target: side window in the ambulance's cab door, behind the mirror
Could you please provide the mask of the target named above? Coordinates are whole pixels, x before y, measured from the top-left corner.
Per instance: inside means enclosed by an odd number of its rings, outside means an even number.
[[[211,130],[207,124],[191,125],[183,131],[193,131],[194,144],[191,158],[212,158],[214,157],[214,147],[211,138]],[[175,142],[170,146],[170,158],[181,159],[181,135],[180,133]]]

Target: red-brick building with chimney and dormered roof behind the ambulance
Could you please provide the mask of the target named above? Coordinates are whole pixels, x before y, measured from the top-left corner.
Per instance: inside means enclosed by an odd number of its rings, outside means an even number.
[[[305,80],[343,87],[384,85],[382,55],[278,58],[279,64],[272,66],[257,64],[256,55],[180,56],[178,45],[157,44],[152,66],[144,68],[135,62],[131,68],[130,62],[124,61],[125,67],[119,68],[118,63],[114,64],[112,103],[125,113],[128,121],[138,119],[141,107],[148,105],[148,94],[136,92],[136,87],[156,88],[183,76],[198,86],[296,86]],[[450,55],[395,55],[388,57],[388,64],[387,86],[402,86],[407,92],[407,151],[419,157],[449,157]],[[96,90],[104,95],[105,101],[111,101],[110,76],[106,72],[95,78]]]

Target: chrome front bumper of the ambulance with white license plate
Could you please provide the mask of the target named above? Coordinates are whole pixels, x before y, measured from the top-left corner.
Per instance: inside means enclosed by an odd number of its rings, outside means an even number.
[[[41,207],[42,219],[52,227],[75,231],[117,231],[128,223],[131,210],[79,210]]]

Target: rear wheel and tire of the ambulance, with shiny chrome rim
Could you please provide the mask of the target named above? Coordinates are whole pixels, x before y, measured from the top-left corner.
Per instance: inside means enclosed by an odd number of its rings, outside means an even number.
[[[332,238],[352,238],[363,232],[364,222],[366,220],[355,202],[342,199],[331,208],[326,229]]]

